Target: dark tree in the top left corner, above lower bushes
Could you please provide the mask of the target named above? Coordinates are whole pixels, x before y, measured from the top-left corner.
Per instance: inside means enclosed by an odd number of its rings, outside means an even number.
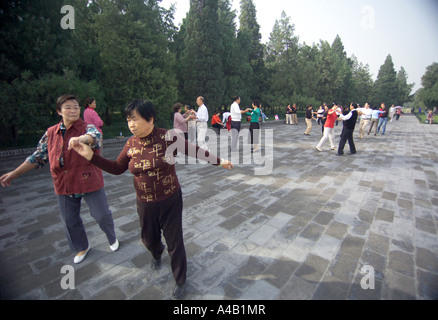
[[[0,4],[0,77],[19,78],[75,70],[78,58],[71,30],[61,27],[60,10],[67,1],[5,0]]]

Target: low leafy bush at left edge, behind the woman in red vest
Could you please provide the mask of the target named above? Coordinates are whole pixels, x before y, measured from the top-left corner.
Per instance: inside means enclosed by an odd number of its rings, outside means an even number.
[[[13,112],[0,113],[0,143],[17,146],[21,135],[34,134],[30,146],[36,146],[44,131],[57,123],[56,100],[65,93],[75,94],[79,101],[87,97],[103,100],[102,90],[96,81],[83,81],[74,72],[63,75],[48,73],[35,78],[30,71],[11,83],[0,83],[2,104],[13,107]]]

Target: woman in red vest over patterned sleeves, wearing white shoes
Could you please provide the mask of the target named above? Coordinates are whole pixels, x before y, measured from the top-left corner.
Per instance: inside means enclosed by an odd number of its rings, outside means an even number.
[[[90,250],[84,224],[80,217],[82,199],[91,216],[105,233],[111,251],[119,248],[114,221],[109,209],[102,171],[69,148],[70,142],[87,144],[92,155],[99,154],[102,136],[99,130],[80,118],[81,108],[74,95],[57,99],[56,112],[61,121],[48,128],[36,151],[15,170],[0,177],[3,187],[32,169],[50,164],[53,186],[58,199],[60,216],[70,249],[76,253],[73,262],[81,263]]]

